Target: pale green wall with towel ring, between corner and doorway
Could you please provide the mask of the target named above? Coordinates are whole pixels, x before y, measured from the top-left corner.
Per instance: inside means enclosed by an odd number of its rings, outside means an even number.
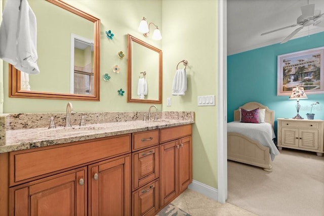
[[[216,95],[217,1],[163,1],[163,110],[195,112],[193,179],[217,188],[217,107],[197,106],[197,96]],[[205,16],[208,14],[208,16]],[[172,96],[177,64],[188,61],[187,92]],[[183,68],[179,64],[179,68]],[[171,98],[167,106],[166,99]]]

